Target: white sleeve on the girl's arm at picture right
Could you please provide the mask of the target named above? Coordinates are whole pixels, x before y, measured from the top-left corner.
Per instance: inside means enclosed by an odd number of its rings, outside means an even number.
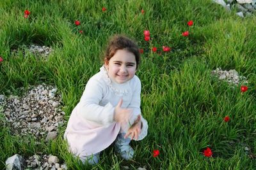
[[[134,78],[134,87],[132,90],[133,90],[132,100],[131,100],[131,103],[127,106],[127,108],[132,108],[133,112],[130,120],[131,122],[134,122],[138,117],[138,115],[141,115],[141,110],[140,110],[141,82],[137,76]],[[147,136],[148,122],[147,120],[145,120],[145,118],[142,117],[142,115],[141,115],[141,122],[142,122],[141,133],[138,136],[138,139],[134,139],[136,141],[140,141],[141,139],[145,138],[145,136]]]

